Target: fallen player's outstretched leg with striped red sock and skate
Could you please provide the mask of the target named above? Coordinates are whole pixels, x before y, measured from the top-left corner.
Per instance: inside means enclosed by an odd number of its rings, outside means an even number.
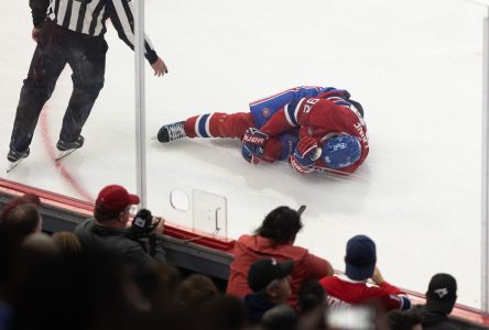
[[[248,128],[254,127],[250,112],[214,112],[194,116],[185,121],[163,125],[157,133],[160,142],[181,138],[242,138]]]

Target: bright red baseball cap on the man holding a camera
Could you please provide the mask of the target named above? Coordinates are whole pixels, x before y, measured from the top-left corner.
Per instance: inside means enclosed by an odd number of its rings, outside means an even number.
[[[140,199],[138,195],[129,194],[124,187],[119,185],[109,185],[98,193],[96,207],[102,207],[106,211],[122,211],[131,205],[138,205]]]

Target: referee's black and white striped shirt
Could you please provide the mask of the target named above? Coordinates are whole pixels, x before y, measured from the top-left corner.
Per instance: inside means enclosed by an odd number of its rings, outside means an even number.
[[[110,19],[119,37],[134,48],[134,18],[131,0],[30,0],[34,26],[42,26],[46,16],[70,31],[99,36],[107,31]],[[152,64],[157,55],[144,35],[144,55]]]

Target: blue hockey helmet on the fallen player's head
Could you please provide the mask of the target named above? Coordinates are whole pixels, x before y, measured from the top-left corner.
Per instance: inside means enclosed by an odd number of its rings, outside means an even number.
[[[343,168],[350,166],[360,158],[361,144],[357,136],[339,134],[326,140],[322,156],[326,166]]]

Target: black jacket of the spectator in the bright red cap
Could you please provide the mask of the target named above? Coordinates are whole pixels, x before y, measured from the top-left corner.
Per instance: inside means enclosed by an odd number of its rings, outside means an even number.
[[[151,256],[148,239],[135,239],[126,229],[99,226],[95,219],[88,219],[78,224],[75,234],[84,249],[107,249],[123,264],[145,265],[166,261],[165,252],[157,239],[155,254]]]

